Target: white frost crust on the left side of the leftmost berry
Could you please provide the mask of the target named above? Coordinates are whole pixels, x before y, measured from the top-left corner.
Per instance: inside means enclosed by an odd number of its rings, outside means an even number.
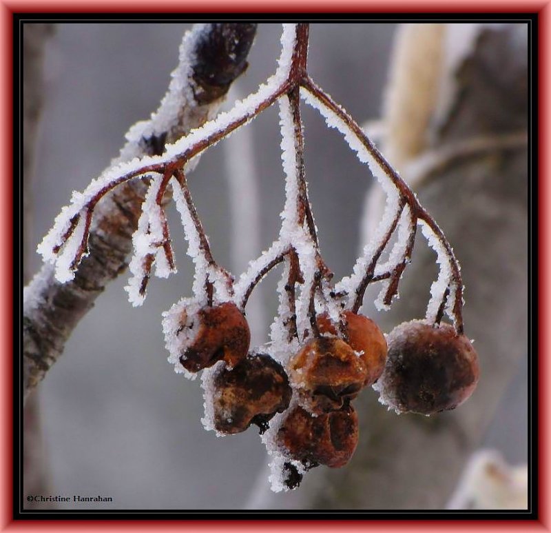
[[[174,372],[184,374],[187,379],[196,379],[197,374],[188,372],[180,363],[180,354],[196,339],[200,323],[197,313],[202,308],[194,298],[182,298],[163,312],[163,333],[165,347],[169,352],[168,362],[174,365]]]

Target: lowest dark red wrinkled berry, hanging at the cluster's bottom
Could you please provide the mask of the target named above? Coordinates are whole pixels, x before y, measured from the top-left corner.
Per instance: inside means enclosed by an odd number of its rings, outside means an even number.
[[[307,468],[326,465],[338,468],[349,462],[357,446],[357,414],[351,405],[312,416],[293,409],[278,431],[278,444]]]

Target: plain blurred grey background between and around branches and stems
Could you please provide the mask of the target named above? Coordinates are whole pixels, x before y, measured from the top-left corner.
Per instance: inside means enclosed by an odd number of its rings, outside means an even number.
[[[85,188],[118,154],[129,125],[156,109],[188,27],[58,26],[45,58],[47,94],[34,177],[31,272],[40,265],[34,249],[71,191]],[[359,121],[380,114],[394,31],[390,23],[312,25],[311,76]],[[238,82],[241,94],[273,72],[279,37],[278,24],[259,26],[249,70]],[[360,246],[359,220],[369,181],[340,135],[326,130],[311,108],[303,109],[306,175],[322,251],[340,277],[349,272]],[[253,128],[266,248],[278,233],[283,205],[277,109],[264,112],[247,128]],[[231,269],[224,172],[222,147],[217,145],[202,157],[189,183],[215,257]],[[205,432],[199,381],[183,379],[166,361],[160,314],[190,294],[192,276],[174,213],[171,221],[178,274],[152,279],[147,300],[137,309],[123,290],[127,274],[112,283],[41,384],[45,447],[56,494],[112,496],[114,503],[103,504],[112,508],[240,508],[267,462],[254,429],[225,438]],[[260,287],[269,316],[277,305],[276,278],[269,276]],[[256,343],[267,339],[264,326],[264,335],[253,339]],[[526,461],[527,455],[526,381],[523,363],[484,443],[514,463]]]

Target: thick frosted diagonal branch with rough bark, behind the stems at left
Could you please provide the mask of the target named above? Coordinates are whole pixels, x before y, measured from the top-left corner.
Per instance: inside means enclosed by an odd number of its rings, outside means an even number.
[[[247,54],[255,34],[256,24],[249,23],[200,24],[187,32],[180,46],[178,67],[172,74],[169,90],[160,107],[151,119],[137,123],[129,130],[121,155],[104,172],[104,176],[116,175],[121,183],[128,181],[129,177],[121,177],[124,174],[121,168],[125,165],[128,168],[127,161],[136,157],[158,156],[167,143],[178,141],[192,128],[212,119],[233,79],[247,68]],[[216,63],[211,61],[212,57],[217,58]],[[147,170],[143,173],[147,174]],[[96,195],[100,190],[101,187],[96,190]],[[63,352],[65,341],[79,320],[92,308],[96,297],[107,283],[125,270],[144,197],[145,183],[132,181],[121,185],[114,194],[105,196],[97,206],[90,204],[90,198],[87,198],[80,203],[77,201],[77,208],[67,213],[76,225],[79,222],[76,221],[77,214],[86,213],[91,205],[95,207],[86,248],[83,248],[83,255],[84,250],[88,251],[88,255],[71,281],[61,283],[56,279],[52,265],[45,264],[25,288],[25,398]],[[72,222],[68,226],[63,223],[61,237],[70,225]],[[81,228],[81,239],[76,240],[73,236],[78,243],[77,249],[83,243],[85,224]],[[75,231],[76,228],[73,228],[72,232]],[[61,241],[63,239],[53,239],[53,247]]]

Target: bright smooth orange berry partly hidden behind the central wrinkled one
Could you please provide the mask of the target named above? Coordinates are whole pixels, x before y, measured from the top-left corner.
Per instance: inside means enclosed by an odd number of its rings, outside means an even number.
[[[368,374],[364,386],[373,385],[380,378],[386,363],[387,346],[384,334],[379,326],[367,316],[352,311],[344,312],[347,342],[355,352],[363,352],[362,359]],[[320,333],[337,334],[335,325],[324,313],[318,316]]]

